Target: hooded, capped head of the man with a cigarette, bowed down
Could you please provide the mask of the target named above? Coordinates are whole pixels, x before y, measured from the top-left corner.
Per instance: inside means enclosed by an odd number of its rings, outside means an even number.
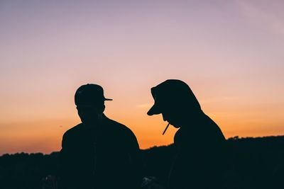
[[[154,105],[148,115],[162,114],[163,120],[174,127],[181,127],[189,113],[192,115],[201,111],[200,103],[190,87],[178,79],[168,79],[151,88]]]

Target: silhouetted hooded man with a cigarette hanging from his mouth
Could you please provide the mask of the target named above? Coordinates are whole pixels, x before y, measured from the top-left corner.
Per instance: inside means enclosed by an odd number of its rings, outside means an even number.
[[[221,188],[226,165],[226,139],[218,125],[205,115],[185,82],[175,79],[151,88],[155,100],[148,115],[180,128],[175,133],[177,156],[173,159],[167,188]],[[168,126],[167,126],[168,128]]]

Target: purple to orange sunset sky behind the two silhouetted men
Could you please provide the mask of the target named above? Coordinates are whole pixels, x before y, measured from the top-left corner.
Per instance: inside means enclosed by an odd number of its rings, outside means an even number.
[[[284,1],[0,0],[0,154],[60,150],[76,89],[142,149],[173,142],[146,115],[150,88],[182,79],[226,138],[284,134]],[[202,136],[201,136],[202,137]]]

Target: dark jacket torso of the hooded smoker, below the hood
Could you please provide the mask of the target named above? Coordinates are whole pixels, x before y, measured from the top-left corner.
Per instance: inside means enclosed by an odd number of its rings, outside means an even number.
[[[221,188],[226,167],[226,139],[218,125],[201,113],[175,134],[177,156],[168,188]]]

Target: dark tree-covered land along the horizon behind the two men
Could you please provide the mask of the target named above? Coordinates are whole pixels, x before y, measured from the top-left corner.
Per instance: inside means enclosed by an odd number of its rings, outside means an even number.
[[[227,140],[231,154],[224,176],[226,188],[284,188],[284,136]],[[146,176],[162,185],[167,179],[173,145],[142,150]],[[42,188],[43,178],[58,175],[58,152],[0,156],[0,188]]]

